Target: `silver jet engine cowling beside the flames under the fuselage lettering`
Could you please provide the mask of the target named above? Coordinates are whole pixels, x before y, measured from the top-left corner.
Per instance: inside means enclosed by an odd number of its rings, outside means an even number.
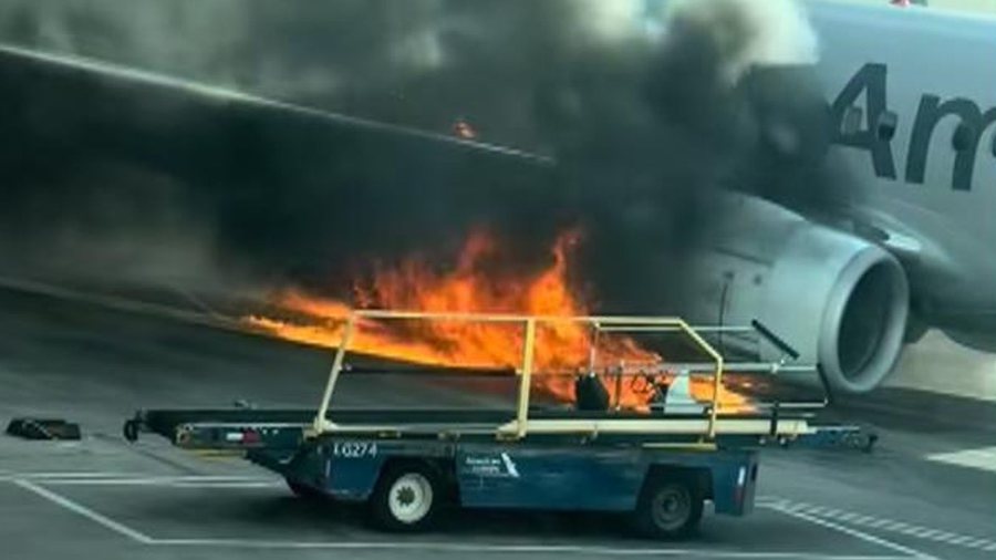
[[[836,391],[876,387],[895,365],[909,315],[910,288],[899,261],[872,242],[758,198],[724,204],[734,206],[718,212],[709,249],[693,266],[696,319],[758,319],[802,360],[819,362]],[[761,354],[776,360],[780,352],[761,344]]]

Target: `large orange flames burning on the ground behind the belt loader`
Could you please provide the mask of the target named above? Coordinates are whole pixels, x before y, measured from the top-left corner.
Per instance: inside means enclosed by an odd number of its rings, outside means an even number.
[[[500,261],[500,248],[486,232],[473,234],[464,243],[453,271],[440,273],[425,260],[411,258],[396,268],[377,270],[373,280],[355,286],[360,308],[459,313],[520,313],[547,317],[589,314],[584,302],[568,281],[569,256],[579,235],[561,235],[551,249],[552,263],[532,274],[505,273],[494,265]],[[343,319],[351,307],[342,301],[290,291],[277,303],[290,311],[315,318],[301,322],[255,315],[255,326],[273,334],[323,346],[336,346],[342,340]],[[350,349],[364,354],[406,362],[461,367],[521,367],[523,332],[521,324],[499,324],[457,320],[361,322]],[[590,363],[594,346],[596,362]],[[591,325],[575,321],[554,321],[537,326],[535,344],[536,387],[563,402],[574,400],[573,374],[594,365],[639,367],[656,365],[660,355],[641,348],[621,334],[600,333],[595,340]],[[630,409],[645,409],[647,394],[627,380],[605,381],[613,403]],[[619,393],[619,394],[616,394]],[[693,380],[692,393],[712,401],[712,380]],[[722,395],[723,401],[743,402],[738,395]]]

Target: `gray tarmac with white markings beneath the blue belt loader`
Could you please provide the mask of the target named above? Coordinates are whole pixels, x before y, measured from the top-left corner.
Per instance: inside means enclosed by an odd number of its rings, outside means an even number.
[[[996,558],[990,403],[909,388],[844,403],[833,415],[878,431],[873,453],[765,452],[755,512],[707,516],[684,542],[633,538],[619,516],[517,511],[386,535],[360,508],[294,498],[236,457],[121,437],[137,408],[314,406],[328,352],[18,290],[0,290],[0,421],[84,429],[81,442],[0,436],[0,558]],[[350,398],[438,393],[372,380]]]

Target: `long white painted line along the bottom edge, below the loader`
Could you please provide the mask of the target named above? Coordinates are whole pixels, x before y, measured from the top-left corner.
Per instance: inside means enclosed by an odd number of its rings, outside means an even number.
[[[155,539],[153,545],[184,547],[227,547],[246,549],[326,549],[326,550],[405,550],[427,552],[476,553],[567,553],[590,556],[676,556],[687,558],[733,558],[772,560],[913,560],[905,556],[847,556],[808,552],[744,552],[739,550],[668,549],[668,548],[611,548],[571,545],[460,545],[456,542],[384,542],[384,541],[282,541],[252,539]]]

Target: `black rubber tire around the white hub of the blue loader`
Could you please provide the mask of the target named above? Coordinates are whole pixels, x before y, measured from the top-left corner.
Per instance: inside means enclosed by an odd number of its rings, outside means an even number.
[[[391,495],[392,489],[395,492],[405,491],[404,488],[395,488],[395,484],[400,484],[398,481],[402,479],[427,485],[427,502],[421,500],[422,504],[425,504],[424,515],[417,516],[417,518],[402,519],[392,510],[392,500],[403,499],[401,495],[394,497]],[[392,465],[381,473],[381,478],[370,496],[367,504],[370,506],[371,520],[376,527],[388,531],[416,532],[425,530],[433,525],[442,504],[445,501],[446,489],[443,486],[436,470],[425,463],[406,462]],[[412,494],[411,488],[408,488],[408,494]],[[426,496],[425,491],[423,491],[423,496]],[[397,501],[395,502],[397,504]]]

